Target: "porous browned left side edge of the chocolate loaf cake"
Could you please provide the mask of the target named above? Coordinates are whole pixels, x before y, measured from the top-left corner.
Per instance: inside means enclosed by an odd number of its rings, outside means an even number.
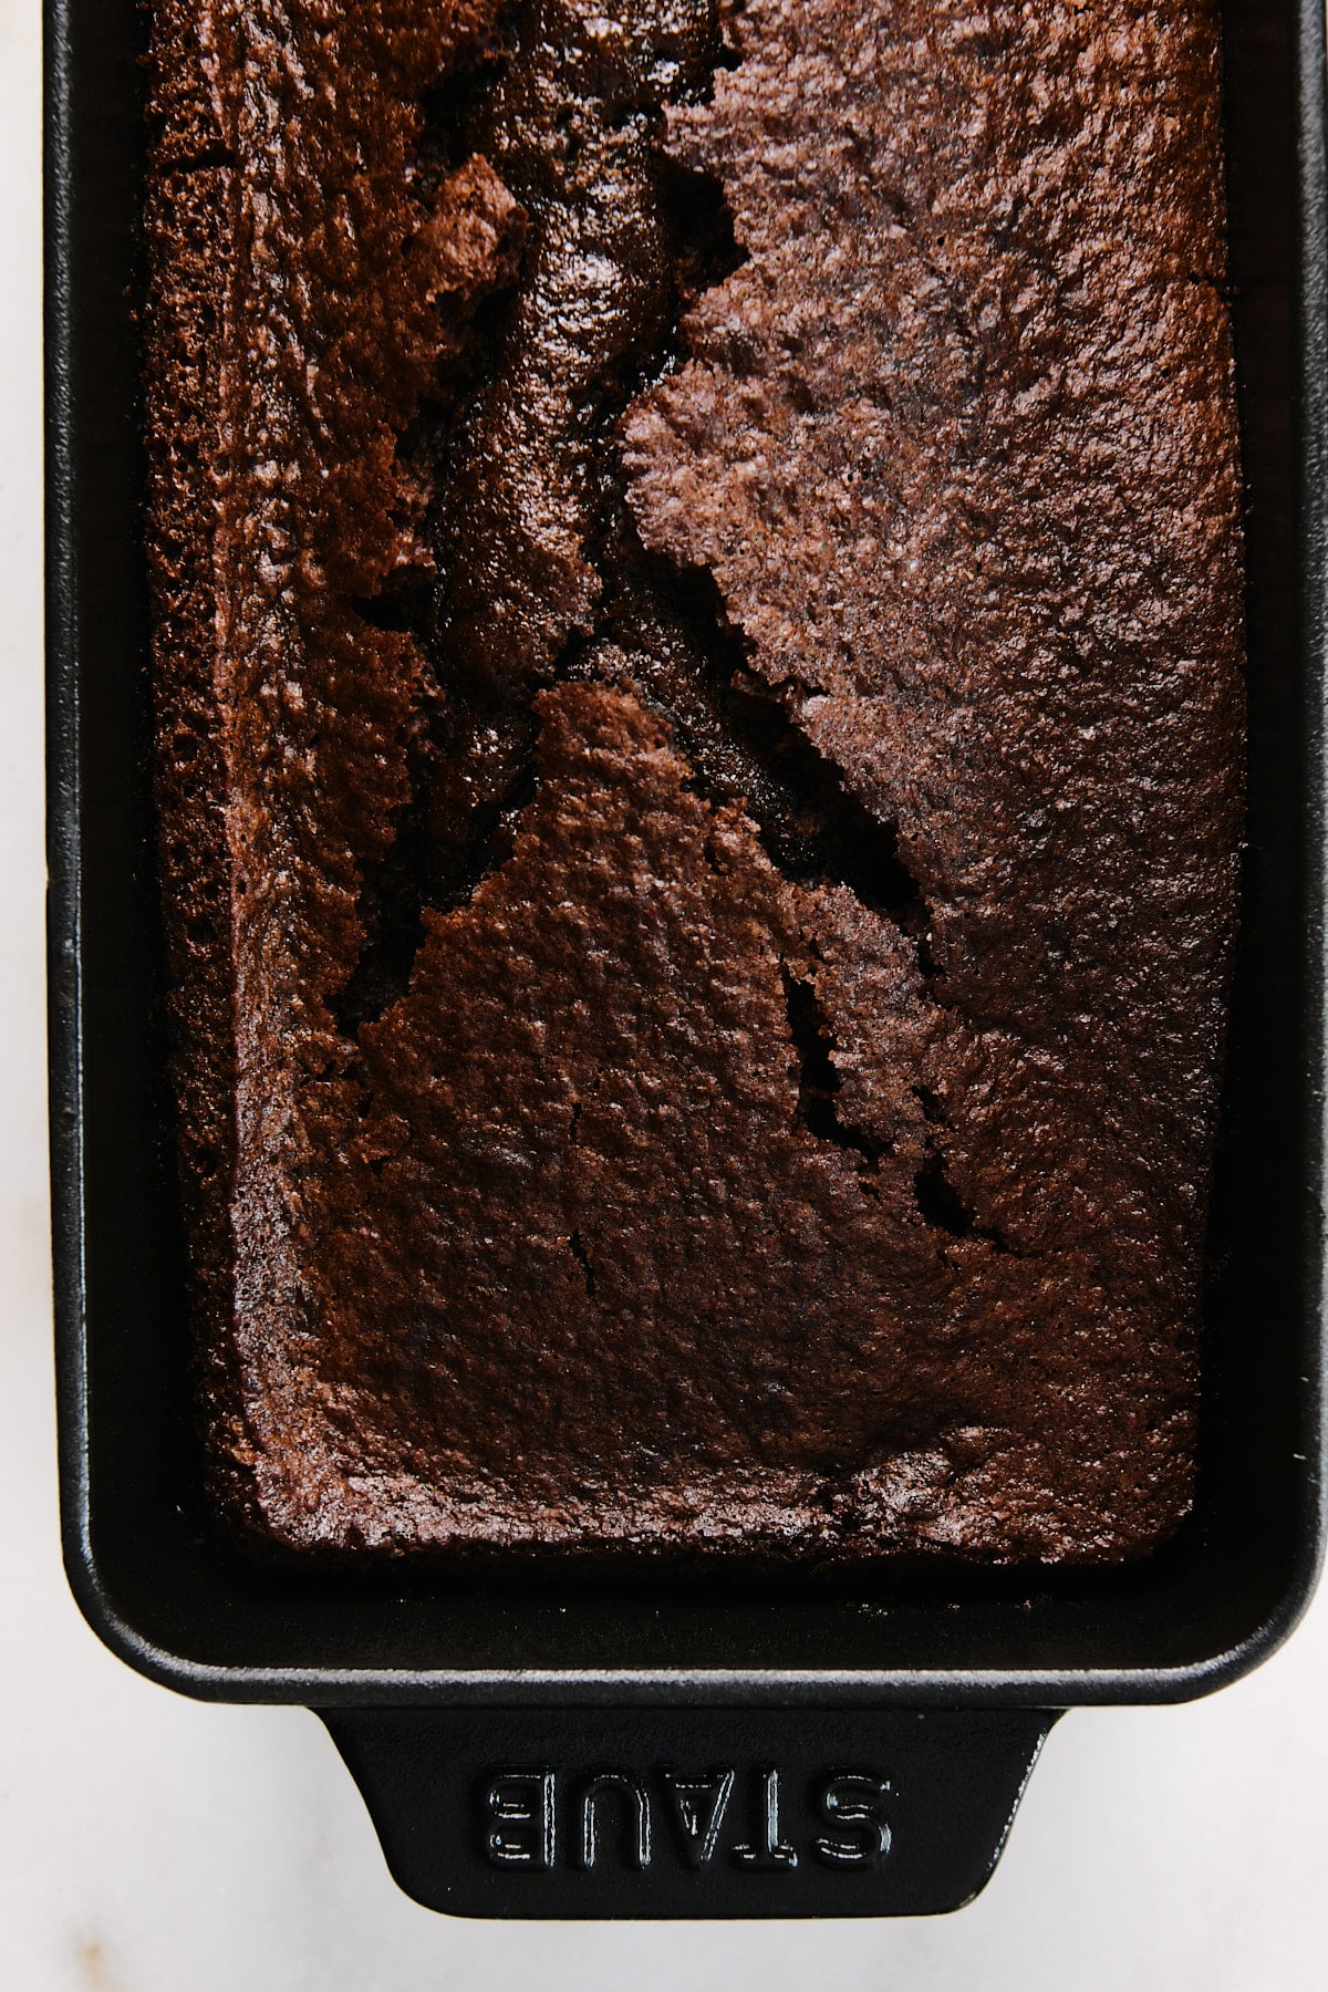
[[[211,1462],[243,1448],[229,1185],[235,1175],[235,956],[227,761],[217,725],[217,532],[225,504],[221,285],[233,159],[207,84],[199,14],[153,14],[145,233],[147,554],[155,604],[157,863],[171,988],[179,1179],[195,1283],[191,1339]],[[233,1488],[233,1470],[223,1472]],[[219,1488],[225,1498],[225,1490]]]

